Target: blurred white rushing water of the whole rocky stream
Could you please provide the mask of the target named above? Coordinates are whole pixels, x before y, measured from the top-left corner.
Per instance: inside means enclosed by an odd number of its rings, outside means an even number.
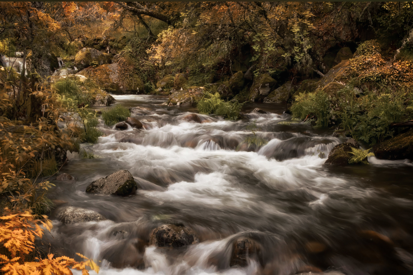
[[[258,105],[248,105],[238,121],[199,115],[199,123],[188,121],[194,109],[168,107],[166,97],[115,98],[133,107],[144,129],[100,124],[105,136],[83,147],[99,157],[70,155],[61,172],[74,180],[54,182],[57,210],[82,207],[107,220],[54,220],[47,237],[54,251],[101,261],[104,275],[413,273],[409,161],[373,157],[368,166],[325,167],[325,156],[343,140],[291,120],[281,104],[259,105],[271,114],[251,113]],[[85,193],[93,180],[119,169],[135,177],[135,194]],[[145,246],[165,223],[192,228],[199,243]],[[258,243],[260,256],[230,267],[240,237]]]

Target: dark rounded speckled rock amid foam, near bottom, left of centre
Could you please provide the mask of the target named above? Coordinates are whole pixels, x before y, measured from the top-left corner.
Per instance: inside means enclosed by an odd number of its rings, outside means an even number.
[[[155,228],[150,236],[150,245],[157,247],[183,247],[198,242],[195,233],[182,225],[162,225]]]

